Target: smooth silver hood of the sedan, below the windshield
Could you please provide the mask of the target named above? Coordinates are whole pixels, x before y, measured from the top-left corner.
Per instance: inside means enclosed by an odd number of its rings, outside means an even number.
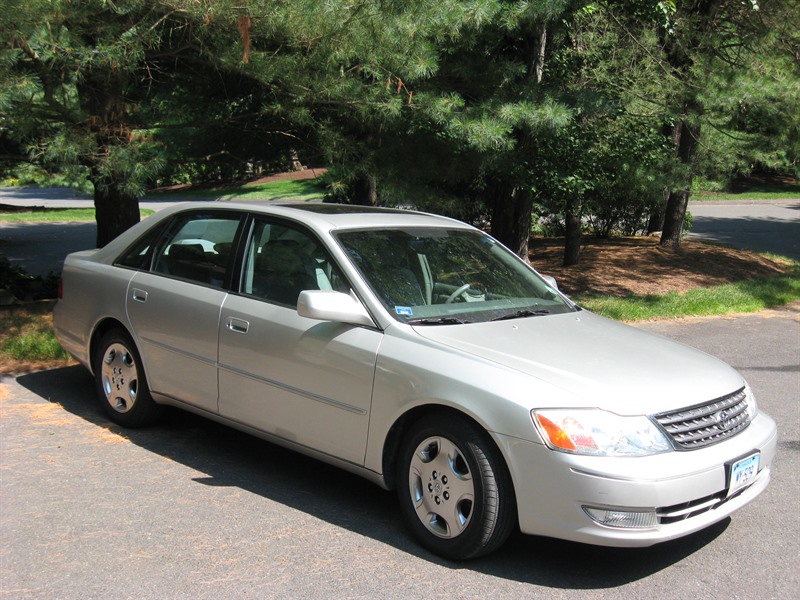
[[[708,402],[744,385],[719,359],[588,311],[414,330],[565,392],[544,403],[537,399],[542,405],[653,414]]]

